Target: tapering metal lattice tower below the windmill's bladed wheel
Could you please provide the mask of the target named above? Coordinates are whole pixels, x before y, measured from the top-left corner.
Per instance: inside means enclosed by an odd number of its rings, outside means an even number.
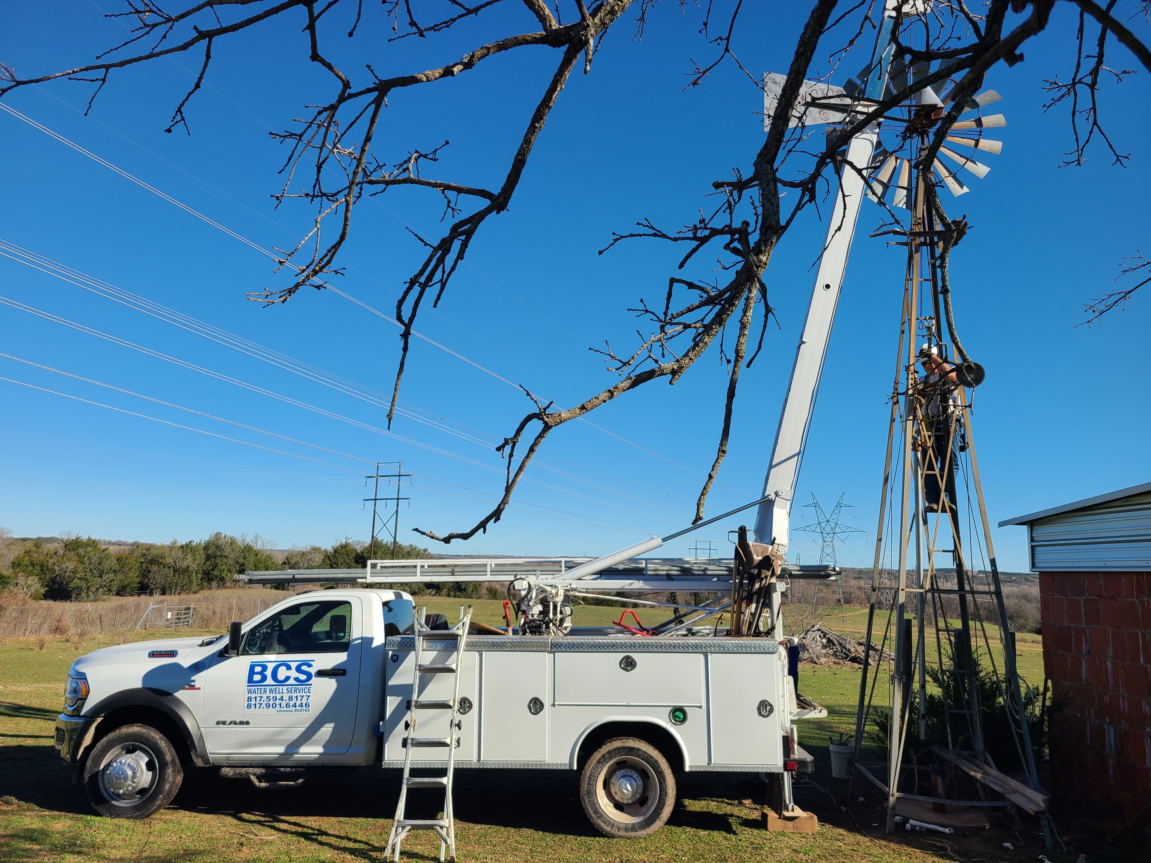
[[[868,609],[867,641],[864,642],[864,665],[860,680],[859,716],[856,718],[855,767],[856,772],[869,778],[886,792],[887,830],[894,828],[900,797],[913,789],[900,788],[905,777],[904,757],[909,742],[909,735],[917,736],[928,743],[932,726],[929,724],[927,663],[928,642],[935,636],[936,648],[931,662],[938,663],[940,687],[943,689],[943,712],[936,718],[939,723],[940,740],[930,754],[923,755],[944,759],[948,769],[959,767],[961,776],[970,774],[980,784],[977,794],[965,793],[967,800],[945,800],[938,791],[932,796],[923,796],[918,788],[914,794],[921,801],[940,803],[960,803],[977,807],[1005,787],[1008,777],[1000,774],[988,753],[988,746],[993,750],[1003,747],[1003,734],[992,734],[989,740],[984,733],[985,717],[1001,709],[1006,723],[1023,763],[1024,772],[1031,785],[1031,792],[1038,792],[1038,777],[1035,770],[1035,757],[1031,750],[1030,733],[1027,725],[1026,705],[1020,692],[1020,678],[1015,664],[1014,639],[1008,627],[1003,589],[999,580],[998,565],[991,542],[990,521],[983,498],[982,479],[975,455],[975,442],[971,434],[971,420],[965,387],[977,385],[982,372],[974,384],[971,377],[965,379],[956,366],[947,360],[948,346],[958,345],[954,336],[954,323],[947,308],[947,335],[942,333],[943,314],[940,306],[946,304],[946,283],[940,287],[940,243],[950,236],[946,230],[936,228],[935,212],[938,207],[933,201],[933,189],[929,185],[930,166],[923,168],[916,176],[913,197],[912,230],[907,236],[907,270],[904,291],[904,323],[899,339],[899,360],[893,388],[892,414],[887,437],[887,456],[884,467],[883,491],[881,498],[879,527],[876,536],[876,556],[872,567],[871,596]],[[930,205],[930,206],[929,206]],[[942,212],[942,211],[940,211]],[[944,224],[945,217],[940,215]],[[920,303],[920,296],[923,303]],[[943,297],[943,304],[940,303]],[[923,308],[922,306],[930,306]],[[916,351],[918,342],[925,342],[933,354]],[[935,359],[935,358],[938,359]],[[920,376],[916,364],[922,361],[927,369]],[[965,354],[965,361],[968,361]],[[953,374],[954,373],[954,374]],[[901,434],[897,435],[897,426]],[[898,441],[898,446],[895,442]],[[895,453],[899,453],[897,460]],[[963,461],[966,455],[966,461]],[[962,464],[961,464],[962,463]],[[901,471],[898,483],[892,476],[892,468]],[[962,487],[958,482],[962,476]],[[899,488],[899,525],[885,526],[889,496],[893,487]],[[971,486],[974,484],[974,490]],[[962,497],[960,496],[962,492]],[[965,547],[965,532],[961,524],[961,502],[974,513],[980,511],[982,536],[967,532],[970,549]],[[893,503],[893,499],[892,499]],[[929,513],[935,518],[929,518]],[[898,535],[898,547],[885,549],[885,529]],[[982,545],[980,543],[982,540]],[[914,570],[908,566],[912,549],[915,543]],[[951,548],[946,548],[950,542]],[[889,542],[890,545],[890,542]],[[986,549],[988,566],[983,567],[974,557],[980,557]],[[946,555],[947,563],[940,573],[936,563],[936,553]],[[894,564],[893,589],[881,587],[881,565],[891,559],[887,566]],[[948,571],[954,573],[953,581]],[[983,581],[988,583],[982,583]],[[910,582],[910,583],[909,583]],[[868,728],[871,705],[881,670],[870,666],[874,655],[871,647],[876,636],[876,611],[884,605],[885,593],[891,593],[889,621],[883,639],[879,642],[881,664],[890,659],[890,716],[887,717],[886,770],[881,778],[881,771],[872,772],[871,764],[862,762],[861,750],[863,736]],[[910,599],[908,608],[908,594]],[[929,625],[929,605],[933,623]],[[905,620],[907,612],[913,611],[917,625],[912,626]],[[999,626],[999,640],[1003,647],[1004,667],[999,673],[997,651],[992,651],[988,637],[985,620],[993,620]],[[914,629],[914,635],[913,635]],[[889,655],[885,650],[889,636],[894,649]],[[913,649],[914,643],[914,649]],[[945,654],[950,652],[950,656]],[[988,703],[986,695],[981,695],[981,679],[984,671],[994,672],[998,690]],[[986,686],[984,685],[984,693]],[[916,697],[917,696],[917,697]],[[912,731],[912,707],[918,702],[917,728]],[[962,717],[962,718],[960,718]],[[958,719],[958,721],[956,721]],[[963,725],[966,723],[966,725]],[[988,726],[990,730],[990,725]],[[944,740],[943,732],[946,732]],[[917,733],[916,733],[917,732]],[[977,762],[976,770],[963,767],[970,762]],[[952,766],[954,765],[954,767]],[[1005,767],[1006,769],[1006,767]],[[965,779],[966,781],[966,779]],[[1029,804],[1016,797],[1009,797],[1015,805],[1029,808]],[[1037,794],[1028,799],[1030,811],[1041,816],[1044,835],[1050,841],[1050,828],[1045,816],[1046,800]],[[977,810],[971,810],[977,811]]]

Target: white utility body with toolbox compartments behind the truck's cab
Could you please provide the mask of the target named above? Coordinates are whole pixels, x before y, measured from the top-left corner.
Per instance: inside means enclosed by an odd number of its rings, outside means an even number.
[[[593,632],[602,632],[594,629]],[[455,642],[425,642],[447,656]],[[384,766],[401,766],[414,639],[387,640]],[[448,675],[420,698],[450,697]],[[795,703],[787,655],[773,639],[472,635],[459,681],[457,767],[576,770],[596,730],[628,726],[665,743],[677,770],[782,772]],[[466,711],[464,710],[466,708]],[[430,712],[430,711],[429,711]],[[421,735],[448,734],[421,718]],[[443,727],[441,727],[443,726]],[[792,761],[805,758],[795,753]],[[413,761],[443,761],[417,750]]]

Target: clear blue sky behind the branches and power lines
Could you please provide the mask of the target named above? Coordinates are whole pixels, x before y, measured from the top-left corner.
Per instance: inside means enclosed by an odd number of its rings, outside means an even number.
[[[25,75],[86,62],[124,32],[91,2],[22,5],[6,17],[0,59]],[[496,7],[480,22],[480,36],[498,32],[510,17],[531,25],[519,7]],[[6,104],[254,243],[290,247],[311,211],[292,203],[273,209],[283,148],[267,132],[284,128],[329,90],[306,62],[296,24],[216,46],[211,86],[186,110],[190,137],[162,130],[192,81],[188,69],[198,60],[191,56],[113,76],[86,119],[85,84],[26,89]],[[1026,62],[991,72],[988,85],[1004,96],[1009,123],[999,136],[1004,152],[988,156],[992,170],[969,183],[969,194],[945,200],[953,215],[966,213],[973,224],[952,257],[952,281],[965,345],[988,369],[975,423],[993,522],[1151,474],[1142,372],[1151,295],[1136,295],[1103,327],[1076,328],[1083,303],[1112,284],[1121,259],[1145,239],[1149,122],[1148,112],[1134,106],[1146,105],[1151,93],[1146,76],[1134,75],[1108,87],[1104,99],[1108,131],[1131,153],[1127,168],[1110,166],[1099,148],[1082,168],[1059,168],[1070,146],[1066,112],[1044,114],[1041,87],[1043,78],[1069,72],[1073,24],[1069,9],[1057,7],[1051,30],[1026,47]],[[365,25],[382,28],[376,17]],[[695,14],[681,15],[668,3],[654,9],[642,41],[628,40],[627,25],[609,35],[592,74],[573,75],[561,97],[511,208],[481,229],[441,307],[424,313],[421,333],[557,405],[610,383],[611,373],[588,346],[604,338],[627,344],[635,329],[627,307],[662,296],[678,259],[651,242],[603,255],[596,250],[612,230],[646,216],[672,228],[691,221],[711,181],[730,176],[734,166],[747,170],[762,143],[762,97],[738,69],[723,67],[702,86],[683,90],[689,59],[712,51],[698,26]],[[737,52],[748,69],[784,70],[800,26],[788,6],[754,9]],[[334,51],[349,67],[373,62],[386,75],[447,61],[470,44],[449,33],[363,55],[356,52],[366,51],[368,40],[346,47],[336,39]],[[1134,66],[1114,52],[1115,64]],[[450,139],[437,175],[497,183],[552,54],[508,55],[439,89],[397,94],[384,115],[381,159]],[[267,258],[12,116],[0,114],[0,238],[390,392],[395,327],[330,292],[308,290],[287,305],[261,308],[245,292],[275,283]],[[338,287],[390,314],[420,257],[406,229],[434,235],[439,216],[432,196],[411,189],[360,204]],[[814,492],[828,505],[845,494],[855,505],[847,524],[867,530],[868,542],[856,537],[843,545],[840,560],[848,565],[870,560],[902,287],[902,250],[867,237],[878,221],[878,209],[867,204],[796,496],[802,504]],[[808,268],[823,234],[809,212],[768,270],[780,328],[769,331],[763,354],[742,377],[731,450],[709,513],[759,496],[810,291]],[[12,300],[384,426],[376,405],[8,259],[0,259],[0,283]],[[501,489],[503,463],[490,442],[510,434],[528,407],[506,383],[417,342],[402,399],[410,413],[435,425],[399,417],[392,432],[421,448],[10,306],[0,306],[0,315],[3,353],[366,459],[321,453],[0,358],[3,377],[343,468],[0,381],[0,525],[16,535],[73,530],[168,541],[226,530],[259,533],[279,548],[365,537],[371,513],[361,510],[368,491],[360,473],[369,473],[367,463],[376,459],[402,459],[405,472],[417,474],[404,491],[411,502],[401,512],[402,539],[418,539],[412,526],[467,528]],[[699,474],[714,453],[725,380],[718,358],[706,357],[674,387],[650,384],[593,414],[590,421],[607,432],[569,423],[549,438],[514,511],[486,535],[435,550],[605,553],[686,526]],[[688,553],[699,539],[726,556],[727,529],[753,520],[730,519],[656,553]],[[793,517],[794,524],[806,521]],[[994,542],[1001,568],[1026,568],[1022,528],[996,530]],[[818,557],[818,545],[803,534],[792,548],[805,562]]]

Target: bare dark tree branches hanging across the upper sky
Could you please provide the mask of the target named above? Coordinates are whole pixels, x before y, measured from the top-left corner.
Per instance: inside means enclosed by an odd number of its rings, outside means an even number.
[[[383,0],[383,13],[395,39],[414,36],[434,40],[449,30],[466,37],[472,32],[489,33],[490,28],[497,24],[509,26],[491,21],[490,16],[483,22],[485,29],[481,30],[477,23],[480,13],[498,1],[443,0],[444,8],[439,8],[434,0],[418,6],[411,0]],[[327,287],[327,278],[341,274],[338,257],[351,237],[356,205],[365,194],[381,194],[395,186],[409,186],[416,194],[435,196],[442,201],[441,221],[444,227],[439,237],[421,236],[410,229],[414,239],[425,247],[425,254],[405,280],[396,306],[396,318],[403,329],[388,412],[390,423],[420,311],[428,301],[433,307],[441,301],[480,228],[489,217],[505,212],[511,205],[524,170],[538,150],[544,124],[580,55],[585,74],[590,72],[593,58],[602,49],[605,33],[628,8],[635,7],[638,12],[637,38],[642,36],[648,16],[660,8],[657,0],[562,1],[569,13],[567,20],[572,22],[570,24],[562,23],[561,0],[555,2],[554,9],[547,0],[523,0],[526,13],[532,17],[521,12],[520,23],[533,28],[538,25],[541,30],[508,30],[498,32],[497,38],[477,38],[465,43],[473,47],[458,54],[455,61],[443,63],[441,55],[435,60],[439,64],[421,63],[417,67],[422,71],[409,70],[381,77],[369,64],[364,67],[364,71],[357,69],[353,72],[341,68],[331,59],[343,55],[330,51],[331,39],[352,38],[358,32],[364,15],[363,0],[198,0],[174,13],[161,9],[153,0],[125,0],[125,9],[114,13],[112,17],[131,21],[131,35],[127,40],[100,54],[96,62],[66,71],[25,77],[0,66],[0,98],[18,87],[70,78],[96,85],[89,102],[91,107],[113,72],[203,49],[199,74],[173,112],[167,128],[169,132],[176,127],[190,132],[186,112],[191,100],[201,89],[212,61],[226,47],[238,41],[231,37],[249,32],[252,38],[261,38],[264,31],[258,28],[265,22],[296,22],[289,16],[298,15],[298,26],[307,35],[307,51],[300,59],[306,56],[307,62],[323,69],[331,90],[322,104],[307,106],[291,128],[275,132],[274,137],[287,148],[287,156],[281,169],[283,185],[274,198],[276,206],[299,201],[314,207],[313,221],[311,230],[298,244],[279,257],[277,272],[284,270],[284,281],[251,297],[270,305],[288,301],[304,287]],[[1069,154],[1069,163],[1082,163],[1088,145],[1096,138],[1102,138],[1114,160],[1122,163],[1127,155],[1118,152],[1099,123],[1098,96],[1104,81],[1119,81],[1130,72],[1105,66],[1107,36],[1113,36],[1130,49],[1149,70],[1151,52],[1145,40],[1137,38],[1115,18],[1116,0],[1107,0],[1105,7],[1093,0],[1069,1],[1081,13],[1074,52],[1069,52],[1075,55],[1074,74],[1067,83],[1058,77],[1047,82],[1051,94],[1047,107],[1061,101],[1070,106],[1074,150]],[[642,329],[635,333],[638,342],[618,350],[605,343],[604,350],[596,351],[604,357],[607,368],[617,380],[566,410],[540,404],[528,392],[533,410],[497,448],[506,459],[506,471],[504,491],[496,506],[467,530],[442,536],[430,530],[421,533],[450,542],[487,530],[500,520],[525,471],[554,429],[651,381],[666,379],[669,383],[676,383],[718,342],[717,353],[729,365],[730,375],[715,458],[696,501],[696,520],[702,518],[708,494],[726,455],[740,373],[745,366],[752,366],[762,349],[772,316],[763,277],[772,254],[808,207],[815,207],[817,213],[821,211],[833,188],[831,170],[857,170],[864,180],[868,178],[870,168],[844,163],[839,151],[871,123],[886,117],[885,122],[894,124],[893,113],[902,112],[899,114],[902,117],[900,122],[905,122],[906,127],[901,133],[917,136],[916,140],[925,144],[918,151],[918,165],[929,168],[935,163],[952,124],[969,108],[970,98],[983,86],[988,71],[1000,61],[1007,66],[1019,63],[1027,41],[1047,29],[1054,0],[989,0],[975,7],[978,14],[968,8],[966,0],[936,3],[920,13],[916,13],[915,6],[897,5],[894,53],[898,63],[905,68],[917,63],[918,68],[927,70],[925,74],[905,74],[900,78],[902,83],[898,86],[892,84],[877,101],[857,100],[851,113],[829,129],[826,138],[815,143],[811,130],[806,129],[802,122],[796,125],[791,121],[796,116],[796,102],[803,92],[805,78],[810,75],[824,82],[830,79],[829,72],[813,70],[816,52],[828,56],[834,70],[847,52],[857,47],[862,35],[876,26],[877,16],[885,14],[886,3],[878,0],[844,0],[841,3],[838,0],[810,1],[777,108],[762,145],[756,153],[748,154],[750,163],[731,166],[729,178],[717,180],[703,190],[699,206],[692,207],[696,215],[684,216],[688,221],[681,227],[662,227],[653,219],[637,214],[634,217],[639,221],[632,230],[613,232],[600,250],[603,254],[625,239],[669,243],[670,249],[676,250],[676,275],[666,277],[666,289],[663,288],[664,276],[653,283],[658,285],[656,290],[663,295],[663,303],[649,306],[641,297],[638,305],[628,310],[641,321]],[[1148,13],[1146,0],[1138,0],[1136,6]],[[681,0],[679,7],[684,12],[687,5]],[[737,56],[738,44],[749,36],[740,18],[748,8],[742,0],[709,0],[704,5],[700,32],[709,46],[707,49],[717,55],[704,64],[692,63],[687,87],[707,84],[711,72],[723,63],[734,63],[756,87],[761,86],[757,76],[752,75]],[[905,21],[905,15],[915,14],[920,17]],[[340,18],[341,15],[346,20]],[[1088,32],[1089,18],[1095,22],[1091,26],[1099,28],[1098,33],[1093,30]],[[715,30],[716,36],[711,30],[714,20],[722,22]],[[435,23],[421,23],[426,21]],[[523,119],[514,121],[518,143],[514,152],[508,154],[498,188],[494,184],[488,188],[488,183],[475,182],[467,176],[444,176],[440,153],[448,142],[432,150],[406,146],[395,154],[380,152],[376,135],[389,99],[401,93],[419,98],[419,93],[427,92],[421,90],[425,85],[447,86],[458,76],[488,68],[491,64],[485,61],[491,58],[528,51],[557,53],[552,55],[555,60],[544,66],[544,71],[538,74],[535,92],[540,94],[533,97],[534,105],[524,106],[524,116],[531,110],[526,124],[519,125],[525,122]],[[927,87],[938,90],[948,84],[950,90],[939,90],[946,92],[946,109],[923,107],[914,101],[914,97]],[[627,85],[634,84],[627,82]],[[799,106],[800,116],[805,107]],[[434,171],[429,170],[432,163],[437,166]],[[426,173],[435,176],[425,176]],[[898,221],[892,211],[889,209],[887,214]],[[947,230],[952,231],[948,235],[950,250],[958,242],[965,222],[952,222],[942,211],[939,217],[940,224],[950,226]],[[844,208],[833,206],[828,219],[833,226],[832,232],[843,229]],[[707,254],[701,255],[700,252]],[[703,269],[711,267],[710,261],[704,264],[704,260],[712,258],[715,266],[710,270]],[[1142,254],[1130,261],[1120,277],[1141,277],[1143,281],[1123,290],[1106,292],[1088,304],[1087,312],[1091,316],[1087,323],[1098,321],[1112,308],[1122,307],[1136,290],[1151,281],[1151,277],[1144,277],[1151,265]],[[722,276],[718,275],[721,273]],[[761,315],[760,334],[748,358],[748,337],[756,306]],[[729,326],[734,333],[730,360],[724,344]]]

